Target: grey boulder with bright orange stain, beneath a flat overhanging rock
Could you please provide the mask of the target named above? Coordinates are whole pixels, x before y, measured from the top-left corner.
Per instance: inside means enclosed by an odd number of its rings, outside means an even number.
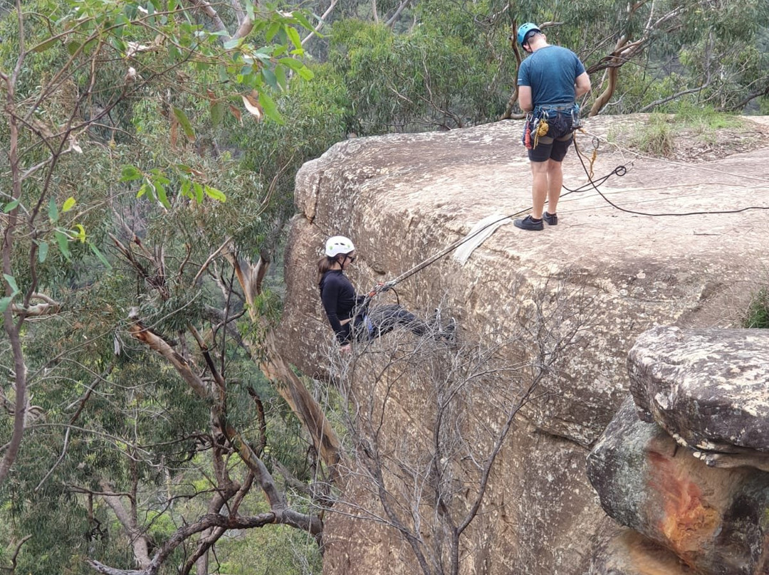
[[[588,477],[610,517],[696,573],[767,573],[769,474],[708,467],[639,419],[631,397],[591,450]]]

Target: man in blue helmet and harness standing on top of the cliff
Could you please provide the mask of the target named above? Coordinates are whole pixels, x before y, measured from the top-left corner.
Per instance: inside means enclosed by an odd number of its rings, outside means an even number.
[[[538,231],[542,220],[558,224],[558,198],[564,174],[561,161],[574,140],[574,119],[579,114],[577,98],[590,91],[590,77],[574,52],[548,44],[536,24],[518,28],[518,42],[531,55],[518,69],[518,104],[527,115],[524,143],[534,178],[531,200],[534,208],[513,223],[517,228]],[[545,129],[547,125],[547,131]],[[548,201],[548,211],[544,201]]]

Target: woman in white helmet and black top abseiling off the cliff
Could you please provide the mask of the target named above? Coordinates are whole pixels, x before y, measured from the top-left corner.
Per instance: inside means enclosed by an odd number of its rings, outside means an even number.
[[[318,287],[328,323],[336,334],[341,351],[349,351],[351,341],[367,341],[387,334],[395,326],[408,327],[418,336],[434,334],[451,340],[454,321],[446,328],[428,324],[397,304],[369,307],[370,296],[358,295],[345,270],[355,262],[355,245],[349,238],[334,236],[325,244],[325,255],[318,261]]]

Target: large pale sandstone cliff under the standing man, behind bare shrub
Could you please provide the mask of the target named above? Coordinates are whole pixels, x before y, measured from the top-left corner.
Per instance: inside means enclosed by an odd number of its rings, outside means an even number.
[[[586,129],[605,137],[611,123],[595,118]],[[297,177],[299,214],[285,260],[281,334],[289,360],[305,374],[327,375],[331,331],[314,280],[325,237],[353,238],[359,258],[351,277],[363,291],[461,238],[481,218],[527,208],[531,176],[520,132],[518,122],[506,121],[361,138],[308,162]],[[587,148],[590,138],[578,142]],[[604,141],[593,168],[601,176],[628,165],[628,174],[601,191],[624,208],[667,214],[769,205],[767,158],[757,149],[682,164],[638,158]],[[586,181],[574,151],[564,174],[569,188]],[[585,457],[627,397],[625,363],[636,337],[658,324],[734,327],[751,292],[767,281],[767,211],[650,217],[612,208],[588,190],[564,196],[558,215],[558,226],[542,232],[504,226],[464,266],[444,258],[398,285],[401,303],[414,310],[426,314],[442,302],[465,341],[518,333],[526,321],[521,308],[554,282],[588,306],[567,357],[504,444],[463,573],[587,573],[594,548],[611,547],[604,536],[615,527],[588,482]],[[408,397],[418,393],[403,391],[391,404],[382,434],[429,434],[431,417],[410,411],[418,405]],[[474,402],[479,412],[483,401]],[[327,573],[414,573],[408,547],[377,523],[331,514],[325,540]]]

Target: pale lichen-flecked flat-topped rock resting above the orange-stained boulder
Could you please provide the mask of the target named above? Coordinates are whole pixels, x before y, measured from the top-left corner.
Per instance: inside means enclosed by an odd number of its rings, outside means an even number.
[[[656,327],[628,354],[631,394],[707,462],[769,470],[767,357],[769,330]]]

